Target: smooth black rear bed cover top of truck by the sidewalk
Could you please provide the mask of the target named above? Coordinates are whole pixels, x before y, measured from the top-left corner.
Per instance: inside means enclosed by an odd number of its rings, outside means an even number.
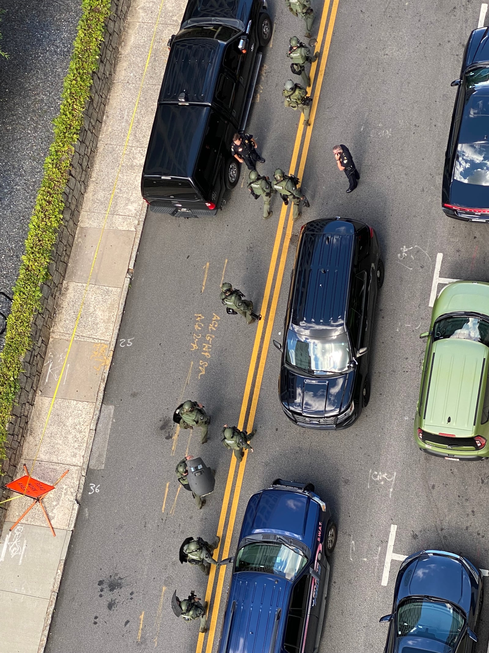
[[[210,116],[209,106],[158,104],[143,175],[192,177]]]

